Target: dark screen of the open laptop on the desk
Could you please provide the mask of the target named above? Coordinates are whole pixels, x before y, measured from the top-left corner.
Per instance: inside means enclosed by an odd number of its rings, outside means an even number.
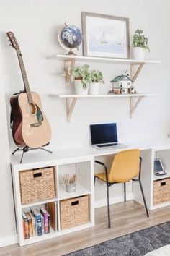
[[[112,124],[91,124],[91,144],[117,142],[117,126]]]

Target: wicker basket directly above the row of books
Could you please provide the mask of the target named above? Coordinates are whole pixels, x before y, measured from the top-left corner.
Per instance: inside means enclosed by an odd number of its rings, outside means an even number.
[[[54,168],[19,172],[22,205],[55,197]]]

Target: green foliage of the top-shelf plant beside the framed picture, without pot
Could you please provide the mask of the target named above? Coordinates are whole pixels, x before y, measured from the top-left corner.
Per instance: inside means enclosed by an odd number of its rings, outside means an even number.
[[[133,35],[133,47],[145,48],[148,51],[148,38],[143,35],[143,30],[135,30],[135,35]]]

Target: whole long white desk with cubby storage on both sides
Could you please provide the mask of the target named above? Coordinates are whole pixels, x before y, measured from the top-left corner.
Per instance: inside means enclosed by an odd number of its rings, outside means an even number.
[[[14,196],[15,196],[15,208],[17,212],[17,226],[19,230],[19,244],[26,245],[32,242],[39,242],[45,239],[60,236],[62,234],[68,234],[73,231],[89,228],[94,226],[94,160],[95,158],[114,155],[115,153],[139,148],[141,150],[141,156],[143,158],[141,179],[143,182],[143,189],[146,195],[146,202],[148,209],[153,210],[155,208],[170,205],[170,202],[163,203],[161,205],[153,205],[153,181],[156,176],[153,174],[153,160],[157,156],[164,161],[166,171],[168,172],[166,177],[170,177],[170,139],[159,139],[159,140],[143,140],[138,142],[124,142],[128,145],[128,148],[120,148],[116,150],[97,150],[89,147],[69,148],[63,150],[57,150],[53,154],[47,153],[42,150],[35,150],[25,153],[22,163],[20,164],[21,153],[12,155],[12,174],[14,182]],[[157,155],[156,155],[157,154]],[[58,197],[53,200],[46,200],[30,205],[23,206],[20,199],[19,189],[19,171],[29,170],[32,168],[42,168],[46,166],[55,166],[55,175],[57,176],[56,184],[58,190]],[[76,166],[75,170],[78,174],[79,184],[74,194],[66,193],[63,184],[61,184],[61,177],[66,174],[69,170],[69,166]],[[165,178],[165,176],[164,176]],[[140,190],[138,184],[133,184],[133,199],[143,204],[141,199]],[[58,203],[58,219],[60,218],[60,200],[77,197],[81,195],[89,195],[90,197],[90,216],[89,223],[86,225],[78,226],[65,231],[59,230],[52,234],[33,237],[31,239],[23,239],[22,234],[22,211],[25,208],[32,208],[37,205],[45,204],[46,202],[56,201]],[[38,207],[38,206],[37,206]]]

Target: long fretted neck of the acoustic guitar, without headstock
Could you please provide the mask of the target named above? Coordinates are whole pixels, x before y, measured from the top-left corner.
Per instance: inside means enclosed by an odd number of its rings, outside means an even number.
[[[24,90],[27,93],[28,102],[31,104],[31,103],[33,103],[32,94],[31,94],[31,91],[30,91],[30,85],[29,85],[29,82],[28,82],[28,79],[27,79],[27,74],[26,74],[26,71],[25,71],[25,68],[24,68],[24,61],[22,59],[22,54],[21,54],[20,50],[17,50],[17,56],[18,56],[18,60],[19,60],[19,66],[20,66],[20,69],[21,69],[21,72],[22,72],[22,79],[23,79],[23,82],[24,82]]]

